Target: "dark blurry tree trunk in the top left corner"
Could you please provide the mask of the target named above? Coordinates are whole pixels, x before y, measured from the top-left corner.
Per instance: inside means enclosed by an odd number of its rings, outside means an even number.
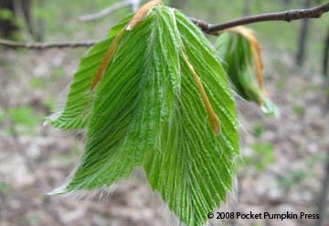
[[[14,3],[12,0],[1,0],[0,1],[0,36],[5,38],[12,38],[15,36],[18,26],[16,26],[15,21],[15,10]],[[6,12],[5,12],[6,11]],[[13,16],[7,18],[4,16],[8,13],[11,13]]]

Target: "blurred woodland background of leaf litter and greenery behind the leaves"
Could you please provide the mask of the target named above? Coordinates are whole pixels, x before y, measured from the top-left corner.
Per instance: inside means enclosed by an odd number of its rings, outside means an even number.
[[[219,23],[327,1],[164,2],[186,15]],[[118,1],[0,0],[0,38],[22,42],[101,39],[131,7],[93,22],[78,18],[115,3]],[[14,8],[8,7],[13,4]],[[238,99],[243,155],[239,185],[220,211],[323,210],[324,221],[214,220],[211,224],[329,225],[328,208],[319,208],[324,206],[324,176],[329,170],[324,167],[329,152],[328,59],[324,57],[324,49],[329,48],[329,14],[316,20],[249,27],[264,48],[266,86],[281,108],[281,117],[266,118],[256,105]],[[58,101],[65,101],[69,82],[86,50],[0,46],[0,225],[175,225],[140,173],[101,199],[100,194],[87,200],[44,195],[65,180],[83,151],[80,134],[42,124]]]

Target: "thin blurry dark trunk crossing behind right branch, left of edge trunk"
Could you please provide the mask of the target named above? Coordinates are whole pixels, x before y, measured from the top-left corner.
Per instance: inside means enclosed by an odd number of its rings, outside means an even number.
[[[311,7],[312,1],[313,0],[305,0],[304,8]],[[308,33],[309,26],[310,26],[310,20],[303,19],[300,36],[298,39],[298,53],[296,56],[296,64],[298,66],[302,66],[303,61],[304,61],[306,44],[307,44],[307,33]]]

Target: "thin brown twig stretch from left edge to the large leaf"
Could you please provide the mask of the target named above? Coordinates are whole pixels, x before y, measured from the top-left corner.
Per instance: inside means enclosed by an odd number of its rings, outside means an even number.
[[[0,39],[0,45],[14,47],[14,48],[29,48],[29,49],[48,49],[48,48],[76,48],[93,46],[98,41],[82,41],[82,42],[60,42],[60,43],[19,43]]]

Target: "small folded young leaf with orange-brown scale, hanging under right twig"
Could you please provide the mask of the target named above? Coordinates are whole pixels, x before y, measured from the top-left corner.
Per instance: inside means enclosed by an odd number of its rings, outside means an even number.
[[[278,115],[279,110],[263,84],[261,46],[253,31],[245,26],[227,29],[218,37],[216,46],[238,94],[255,101],[266,115]]]

